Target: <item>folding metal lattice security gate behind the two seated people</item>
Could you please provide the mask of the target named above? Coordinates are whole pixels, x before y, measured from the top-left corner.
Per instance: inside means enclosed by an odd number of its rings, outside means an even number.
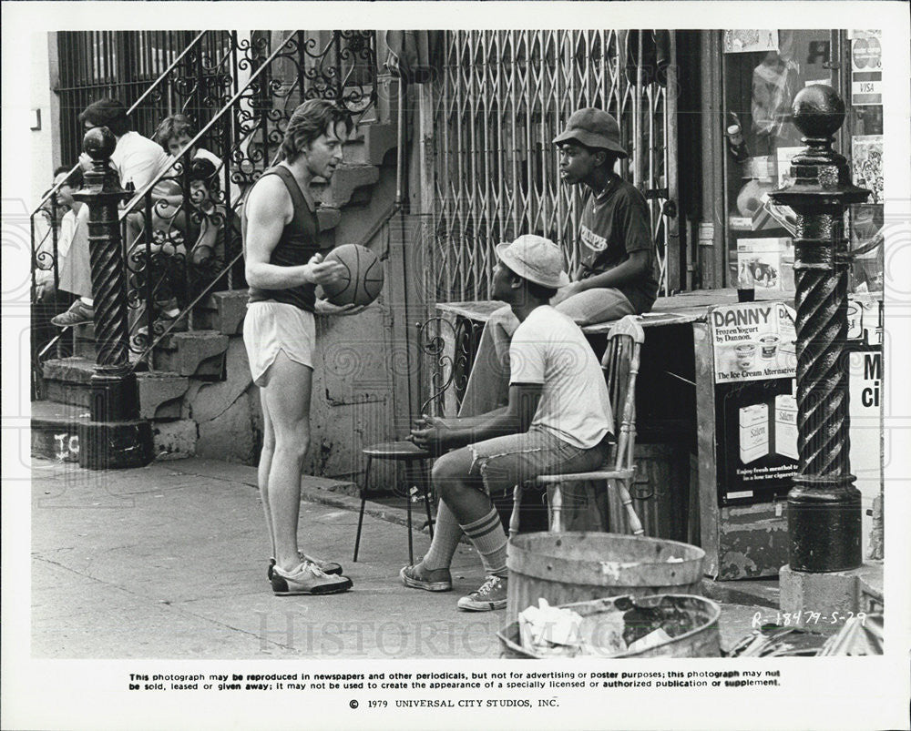
[[[676,256],[673,36],[661,70],[650,31],[449,31],[435,89],[435,238],[428,291],[487,299],[494,247],[536,233],[572,270],[582,192],[562,185],[551,140],[579,107],[617,117],[630,152],[619,174],[649,199],[662,262]],[[654,57],[654,54],[651,55]],[[669,205],[668,201],[671,202]],[[671,246],[669,247],[669,241]]]

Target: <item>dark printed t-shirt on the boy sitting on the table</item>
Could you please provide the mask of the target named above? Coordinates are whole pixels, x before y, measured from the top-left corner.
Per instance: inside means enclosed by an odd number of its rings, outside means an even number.
[[[636,312],[648,312],[658,297],[658,261],[651,241],[649,205],[640,191],[616,176],[597,196],[589,196],[579,224],[581,279],[613,269],[631,251],[649,252],[649,269],[639,281],[617,289]]]

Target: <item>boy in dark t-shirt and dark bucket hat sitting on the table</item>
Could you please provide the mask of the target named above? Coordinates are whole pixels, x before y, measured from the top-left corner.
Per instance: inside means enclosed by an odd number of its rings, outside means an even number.
[[[573,281],[560,287],[550,304],[578,325],[648,312],[658,297],[658,262],[648,204],[614,172],[617,161],[628,157],[619,143],[617,120],[601,109],[579,109],[554,144],[560,178],[583,186],[588,198],[578,228],[580,264]],[[506,402],[509,340],[517,327],[509,308],[496,310],[487,320],[460,415]]]

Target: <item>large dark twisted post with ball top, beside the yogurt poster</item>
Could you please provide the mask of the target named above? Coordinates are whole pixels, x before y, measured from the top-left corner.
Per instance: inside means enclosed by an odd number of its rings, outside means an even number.
[[[794,279],[797,308],[798,471],[788,493],[789,565],[836,572],[862,563],[860,491],[848,460],[847,285],[851,258],[844,211],[869,197],[851,182],[832,149],[844,102],[829,86],[801,90],[794,124],[807,147],[792,160],[793,182],[770,193],[797,214]]]

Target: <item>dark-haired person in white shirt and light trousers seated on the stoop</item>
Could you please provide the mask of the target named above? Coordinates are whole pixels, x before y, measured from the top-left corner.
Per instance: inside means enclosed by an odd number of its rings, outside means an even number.
[[[127,109],[117,99],[104,98],[92,102],[79,115],[79,122],[86,131],[107,127],[117,138],[117,147],[110,161],[118,172],[122,188],[127,188],[130,183],[136,190],[145,188],[169,162],[170,158],[158,144],[132,130]],[[87,153],[82,153],[79,162],[85,171],[93,168],[92,158]],[[180,197],[175,192],[179,193],[172,186],[159,184],[153,188],[152,195],[156,201],[167,200],[179,205]],[[138,211],[129,214],[128,248],[137,235],[136,230],[142,226],[142,218]],[[69,254],[60,269],[60,289],[77,295],[77,300],[69,310],[57,315],[51,322],[58,328],[90,323],[95,317],[95,306],[88,250],[88,206],[79,210]]]

